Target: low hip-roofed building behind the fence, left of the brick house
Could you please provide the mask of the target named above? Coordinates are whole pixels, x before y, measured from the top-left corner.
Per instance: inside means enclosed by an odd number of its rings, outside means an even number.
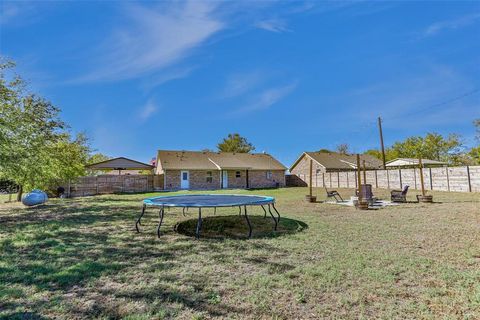
[[[125,157],[109,159],[102,162],[97,162],[86,166],[92,171],[99,171],[102,174],[108,175],[136,175],[142,171],[153,171],[155,166],[147,163],[135,161]]]

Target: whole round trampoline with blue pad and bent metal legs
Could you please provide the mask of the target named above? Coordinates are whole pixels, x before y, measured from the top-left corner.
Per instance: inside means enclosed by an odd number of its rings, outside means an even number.
[[[158,227],[157,227],[157,236],[160,237],[160,227],[162,226],[163,217],[165,214],[165,208],[179,207],[183,208],[182,213],[185,215],[185,209],[188,208],[198,208],[198,221],[197,228],[195,231],[195,237],[198,239],[200,237],[200,231],[202,229],[202,208],[213,208],[214,213],[216,213],[217,208],[221,207],[238,207],[239,215],[243,214],[245,216],[245,221],[248,225],[248,237],[252,237],[252,225],[248,218],[247,207],[249,206],[260,206],[263,209],[264,217],[267,217],[268,213],[273,219],[274,227],[273,230],[277,230],[278,222],[280,221],[280,213],[275,208],[275,198],[266,197],[266,196],[257,196],[257,195],[233,195],[233,194],[192,194],[192,195],[178,195],[178,196],[161,196],[154,198],[147,198],[143,200],[142,213],[138,217],[135,228],[137,232],[140,232],[138,228],[141,225],[141,219],[145,214],[147,206],[156,206],[160,207],[158,217]],[[277,217],[272,213],[272,208],[275,211]]]

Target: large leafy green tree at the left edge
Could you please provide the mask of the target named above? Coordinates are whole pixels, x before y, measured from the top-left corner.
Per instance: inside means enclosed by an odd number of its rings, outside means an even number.
[[[59,108],[26,91],[13,66],[0,65],[0,176],[20,186],[20,198],[84,174],[90,149],[84,134],[71,136]]]

